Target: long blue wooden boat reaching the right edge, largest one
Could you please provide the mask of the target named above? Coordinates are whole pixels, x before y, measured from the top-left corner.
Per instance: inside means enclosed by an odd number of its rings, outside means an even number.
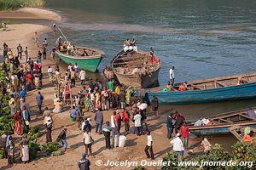
[[[186,91],[177,90],[180,84],[168,92],[161,92],[165,87],[150,88],[146,99],[155,95],[160,105],[183,105],[256,98],[256,73],[188,82]]]

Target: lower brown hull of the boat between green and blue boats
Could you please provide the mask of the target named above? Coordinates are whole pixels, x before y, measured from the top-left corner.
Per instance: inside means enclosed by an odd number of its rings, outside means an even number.
[[[128,76],[128,75],[121,75],[116,73],[115,76],[117,77],[118,81],[125,86],[131,86],[133,88],[153,88],[157,87],[159,85],[158,82],[158,76],[159,71],[154,71],[152,75],[143,75],[141,77],[139,76]]]

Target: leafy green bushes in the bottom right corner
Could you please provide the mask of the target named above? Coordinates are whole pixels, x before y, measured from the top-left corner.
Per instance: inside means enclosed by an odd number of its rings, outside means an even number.
[[[256,164],[256,141],[253,143],[248,142],[237,142],[236,144],[232,145],[232,154],[229,155],[228,152],[224,150],[223,147],[221,147],[220,144],[214,144],[212,146],[212,149],[209,150],[207,153],[203,154],[202,156],[196,156],[192,159],[186,159],[185,161],[198,161],[198,162],[229,162],[229,161],[236,161],[236,165],[239,165],[239,162],[241,161],[252,161],[251,164],[247,164],[247,167],[224,167],[224,166],[208,166],[204,165],[203,167],[200,167],[199,164],[198,167],[178,167],[177,162],[174,157],[174,153],[166,153],[166,156],[163,157],[163,162],[170,161],[170,166],[161,167],[162,170],[171,170],[171,169],[177,169],[177,170],[195,170],[195,169],[206,169],[206,170],[236,170],[236,169],[243,169],[243,170],[249,170],[249,169],[256,169],[253,168],[253,165]]]

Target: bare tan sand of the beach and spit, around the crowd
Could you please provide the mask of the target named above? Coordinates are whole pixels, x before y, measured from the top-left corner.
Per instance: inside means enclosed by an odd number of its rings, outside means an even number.
[[[46,19],[51,20],[55,19],[56,21],[60,21],[61,17],[58,14],[55,14],[51,11],[47,11],[45,9],[39,9],[40,14],[38,13],[38,9],[35,8],[22,8],[15,12],[0,12],[0,18],[6,19]],[[51,17],[49,17],[49,14]],[[45,18],[45,16],[47,16]],[[57,16],[57,17],[54,17]],[[9,25],[9,31],[0,31],[0,41],[7,42],[10,48],[15,48],[20,43],[23,47],[28,47],[29,57],[32,59],[36,59],[38,46],[33,40],[33,32],[38,31],[38,35],[42,36],[47,31],[50,31],[49,26],[42,25],[33,25],[33,24],[19,24],[19,25]],[[43,37],[44,38],[44,37]],[[16,53],[16,50],[14,50]],[[2,51],[1,51],[2,53]],[[48,54],[49,58],[49,54]],[[54,66],[54,61],[50,59],[42,59],[43,62],[43,72],[46,75],[46,71],[49,65]],[[24,61],[23,61],[24,63]],[[61,68],[61,75],[64,75],[64,69]],[[73,88],[73,94],[76,94],[79,89],[82,87],[79,86],[80,82],[77,82],[76,88]],[[41,90],[41,94],[44,95],[44,105],[48,106],[49,109],[53,109],[53,99],[55,88],[53,85],[49,83],[47,77],[44,77],[43,80],[43,88]],[[34,125],[43,125],[44,119],[42,115],[38,114],[38,107],[35,101],[35,96],[38,93],[37,90],[33,90],[26,94],[26,100],[28,101],[31,111],[32,111],[32,126]],[[103,111],[104,114],[104,122],[110,120],[112,111]],[[94,114],[90,112],[86,112],[85,116],[90,117],[92,119],[92,124],[95,125],[94,122]],[[61,114],[57,114],[53,117],[54,119],[54,128],[53,128],[53,139],[57,138],[58,133],[61,131],[61,127],[66,125],[68,127],[67,131],[67,143],[68,149],[67,153],[62,153],[61,156],[47,156],[45,154],[38,154],[38,158],[35,161],[32,161],[28,164],[21,163],[20,160],[17,159],[17,163],[14,165],[7,165],[6,160],[0,160],[1,169],[27,169],[27,170],[48,170],[48,169],[77,169],[77,161],[81,158],[81,153],[84,152],[84,144],[83,144],[83,133],[78,129],[77,122],[70,122],[69,111],[62,112]],[[131,127],[133,127],[131,123]],[[154,113],[151,111],[151,108],[148,108],[148,128],[153,131],[152,136],[154,138],[154,153],[155,153],[155,161],[161,160],[163,156],[165,156],[166,152],[171,151],[172,147],[170,145],[170,140],[166,139],[166,115],[155,117]],[[124,127],[121,127],[121,132],[124,132]],[[95,154],[95,158],[90,157],[91,161],[91,169],[109,169],[110,167],[97,167],[96,161],[102,160],[103,163],[107,163],[108,160],[111,161],[138,161],[145,160],[146,156],[144,154],[144,147],[146,145],[147,136],[143,135],[137,137],[135,134],[128,134],[127,136],[127,146],[125,148],[115,148],[113,150],[105,149],[105,140],[103,135],[99,135],[95,133],[95,129],[92,130],[92,138],[95,139],[95,144],[92,146],[92,150]],[[18,139],[17,139],[18,140]],[[45,143],[45,134],[38,139],[38,143]],[[190,139],[189,144],[194,145],[195,152],[201,152],[198,149],[199,139]],[[16,145],[17,146],[17,145]],[[189,156],[186,151],[185,156]],[[150,160],[148,160],[150,161]],[[112,167],[113,169],[131,169],[124,167]],[[155,167],[148,167],[148,169],[155,169]]]

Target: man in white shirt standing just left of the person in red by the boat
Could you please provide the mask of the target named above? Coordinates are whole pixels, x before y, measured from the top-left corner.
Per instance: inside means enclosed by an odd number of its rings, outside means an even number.
[[[181,159],[183,160],[183,141],[179,138],[180,133],[176,134],[176,138],[171,140],[171,144],[173,144],[173,150],[175,151],[175,158],[176,161],[178,161],[178,154],[181,156]]]

